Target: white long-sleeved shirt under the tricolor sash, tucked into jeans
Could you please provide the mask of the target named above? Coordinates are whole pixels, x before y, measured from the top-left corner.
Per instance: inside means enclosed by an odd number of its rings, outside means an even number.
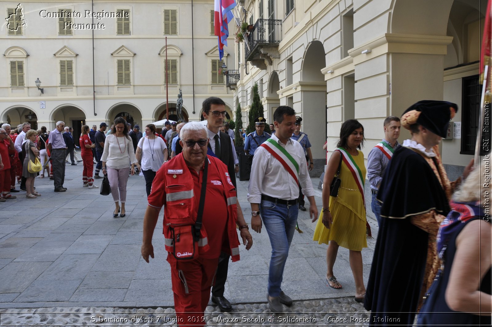
[[[314,196],[302,145],[291,138],[287,144],[283,144],[275,134],[272,134],[272,139],[299,163],[299,183],[303,194]],[[250,203],[260,203],[262,194],[282,200],[293,200],[299,197],[299,187],[283,165],[267,149],[260,146],[251,165],[247,200]]]

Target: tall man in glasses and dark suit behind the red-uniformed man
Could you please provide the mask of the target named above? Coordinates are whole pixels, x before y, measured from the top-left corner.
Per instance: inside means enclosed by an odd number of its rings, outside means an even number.
[[[227,165],[229,177],[236,187],[236,173],[239,171],[239,160],[234,150],[234,144],[229,134],[219,131],[225,121],[225,102],[221,98],[206,98],[202,104],[203,118],[207,120],[207,132],[209,137],[208,155],[220,159]],[[238,217],[243,217],[243,211],[239,203]],[[247,228],[247,226],[246,226]],[[241,229],[243,233],[249,233],[247,229]],[[222,311],[231,311],[231,303],[224,297],[224,285],[227,280],[227,269],[230,256],[224,252],[218,260],[217,273],[215,274],[215,285],[212,288],[212,302],[218,304]]]

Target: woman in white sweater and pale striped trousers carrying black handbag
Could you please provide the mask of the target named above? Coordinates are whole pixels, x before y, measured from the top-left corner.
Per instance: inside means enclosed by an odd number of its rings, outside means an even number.
[[[126,120],[123,117],[115,119],[112,133],[106,136],[104,141],[104,151],[102,153],[102,172],[108,174],[111,194],[115,200],[115,211],[113,217],[120,217],[126,214],[124,203],[126,202],[126,182],[128,175],[135,174],[135,164],[139,167],[133,151],[133,142],[128,136]],[[131,170],[130,170],[131,169]],[[120,203],[121,202],[121,208]]]

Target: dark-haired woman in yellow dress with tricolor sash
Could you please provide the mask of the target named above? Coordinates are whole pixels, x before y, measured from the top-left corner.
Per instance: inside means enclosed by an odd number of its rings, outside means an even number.
[[[323,180],[323,210],[314,230],[314,241],[328,244],[326,250],[326,281],[331,288],[341,289],[333,273],[338,247],[350,250],[350,268],[354,275],[357,302],[364,301],[366,288],[362,275],[362,248],[366,241],[366,209],[364,154],[358,150],[364,144],[364,127],[355,119],[347,120],[340,129],[337,150],[333,152]],[[330,196],[330,185],[341,162],[338,196]]]

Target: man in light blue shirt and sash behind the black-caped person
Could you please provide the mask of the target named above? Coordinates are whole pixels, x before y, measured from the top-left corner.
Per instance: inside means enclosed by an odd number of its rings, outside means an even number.
[[[398,137],[400,136],[400,118],[389,116],[384,120],[384,138],[369,152],[368,157],[368,178],[370,192],[372,194],[371,209],[377,219],[377,224],[381,226],[381,204],[377,201],[377,191],[383,179],[384,170],[390,162],[396,149],[400,146]]]

